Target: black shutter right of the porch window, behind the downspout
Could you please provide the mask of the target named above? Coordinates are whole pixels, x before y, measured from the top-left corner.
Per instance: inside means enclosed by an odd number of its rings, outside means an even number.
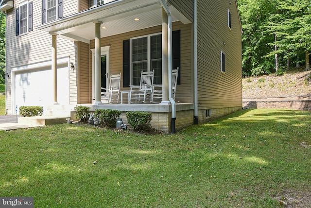
[[[177,85],[180,85],[180,30],[172,32],[173,69],[178,70]]]

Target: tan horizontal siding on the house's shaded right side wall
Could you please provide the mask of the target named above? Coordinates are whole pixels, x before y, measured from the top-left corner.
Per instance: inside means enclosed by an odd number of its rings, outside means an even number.
[[[236,4],[227,0],[197,3],[199,107],[242,107],[242,41]],[[225,73],[221,72],[221,52],[225,53]]]

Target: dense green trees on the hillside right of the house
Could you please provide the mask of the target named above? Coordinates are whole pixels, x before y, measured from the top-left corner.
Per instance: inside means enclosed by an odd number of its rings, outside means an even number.
[[[310,69],[310,0],[238,0],[238,4],[244,30],[244,75],[289,69],[300,63]]]

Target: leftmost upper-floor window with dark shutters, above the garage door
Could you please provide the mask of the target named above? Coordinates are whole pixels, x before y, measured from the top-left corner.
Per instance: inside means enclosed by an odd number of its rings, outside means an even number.
[[[16,9],[16,35],[33,30],[33,1],[24,1]]]

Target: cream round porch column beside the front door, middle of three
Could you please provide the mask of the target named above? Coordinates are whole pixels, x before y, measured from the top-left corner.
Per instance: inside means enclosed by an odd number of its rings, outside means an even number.
[[[95,104],[103,104],[101,98],[102,69],[101,69],[101,24],[95,23]]]

